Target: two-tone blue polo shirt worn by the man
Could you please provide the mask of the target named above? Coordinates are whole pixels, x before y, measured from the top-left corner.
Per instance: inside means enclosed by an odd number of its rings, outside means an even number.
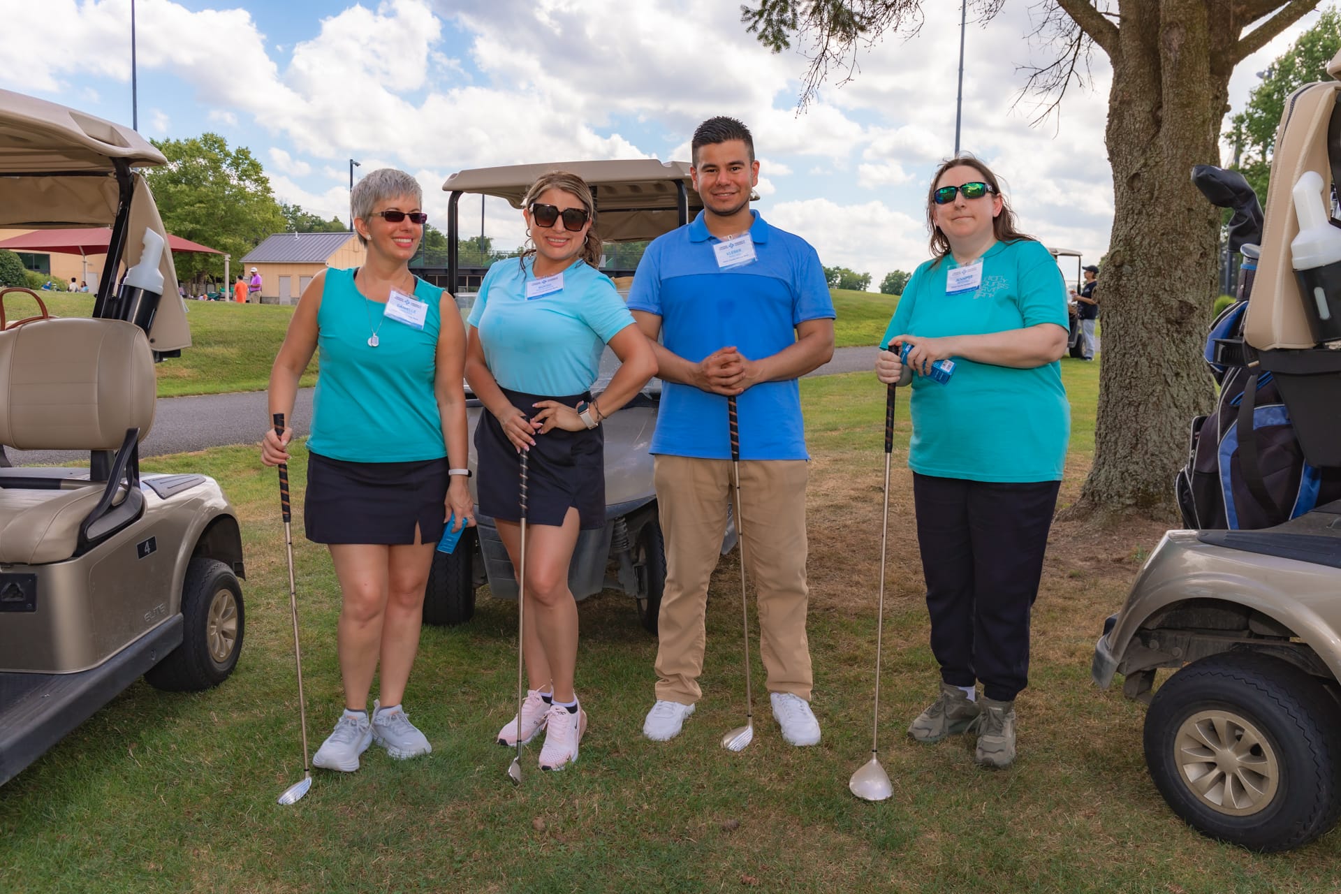
[[[697,363],[734,344],[756,361],[797,340],[797,326],[833,319],[819,256],[803,239],[754,214],[755,260],[721,269],[704,213],[648,245],[629,308],[661,318],[665,347]],[[736,398],[742,460],[807,460],[797,379],[760,382]],[[727,398],[666,382],[652,453],[730,460]]]

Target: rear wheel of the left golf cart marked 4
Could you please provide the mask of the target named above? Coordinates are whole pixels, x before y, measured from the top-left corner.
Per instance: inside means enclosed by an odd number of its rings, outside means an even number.
[[[192,559],[181,586],[181,645],[145,680],[169,692],[217,686],[233,673],[243,650],[243,591],[233,570],[217,559]]]

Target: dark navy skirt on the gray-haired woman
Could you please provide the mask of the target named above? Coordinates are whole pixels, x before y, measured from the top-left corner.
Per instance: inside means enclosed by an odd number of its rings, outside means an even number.
[[[312,543],[400,546],[443,537],[447,457],[413,462],[347,462],[307,454],[303,527]]]

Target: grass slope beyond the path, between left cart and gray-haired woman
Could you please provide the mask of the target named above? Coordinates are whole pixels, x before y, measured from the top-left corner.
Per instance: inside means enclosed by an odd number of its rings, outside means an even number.
[[[90,316],[93,295],[42,292],[42,300],[56,316]],[[291,306],[235,304],[233,302],[186,302],[186,323],[192,346],[181,357],[156,366],[158,397],[182,394],[224,394],[263,391],[270,367],[284,340]],[[38,312],[32,299],[5,302],[11,319]],[[316,383],[316,361],[308,366],[302,385]]]

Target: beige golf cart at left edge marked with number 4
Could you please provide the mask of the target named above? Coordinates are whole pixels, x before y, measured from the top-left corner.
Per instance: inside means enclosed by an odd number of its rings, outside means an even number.
[[[91,319],[0,294],[0,448],[90,453],[89,468],[0,468],[0,784],[141,674],[207,689],[241,650],[228,499],[202,474],[139,474],[154,362],[190,344],[174,288],[160,300],[177,277],[134,170],[165,164],[129,127],[0,90],[0,227],[113,231]]]

